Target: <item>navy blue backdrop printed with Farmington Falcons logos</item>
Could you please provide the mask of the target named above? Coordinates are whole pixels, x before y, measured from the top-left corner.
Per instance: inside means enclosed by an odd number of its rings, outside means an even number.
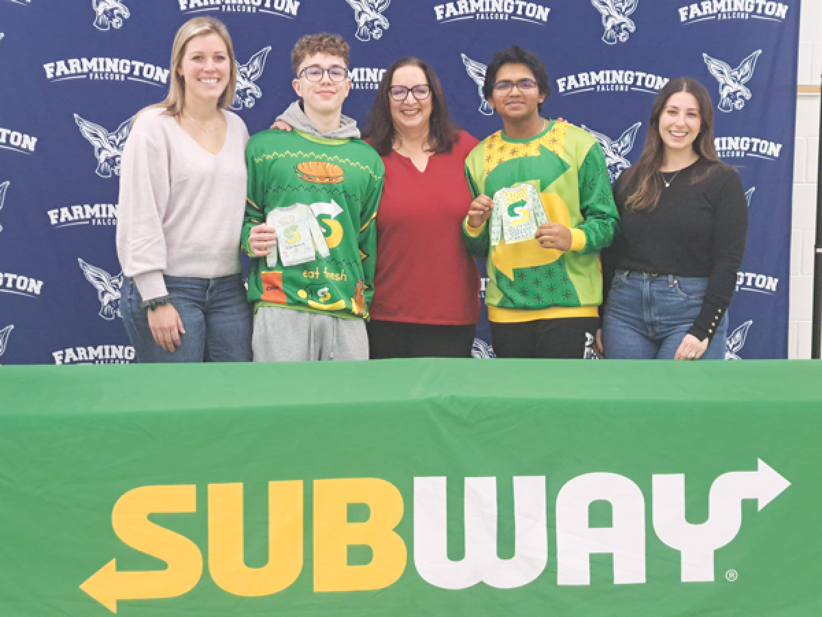
[[[501,128],[479,86],[494,51],[533,49],[553,89],[543,111],[592,132],[612,179],[638,160],[667,80],[699,79],[750,208],[727,358],[784,358],[799,13],[800,0],[0,0],[0,362],[133,360],[120,153],[132,116],[166,94],[174,33],[204,15],[233,35],[233,109],[252,133],[294,98],[294,42],[322,30],[352,47],[344,113],[363,120],[384,69],[416,55],[479,138]]]

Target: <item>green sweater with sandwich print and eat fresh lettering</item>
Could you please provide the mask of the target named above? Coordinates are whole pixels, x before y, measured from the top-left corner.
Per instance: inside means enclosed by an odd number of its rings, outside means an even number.
[[[298,266],[252,259],[248,300],[344,319],[367,318],[374,285],[374,217],[385,174],[380,155],[365,141],[325,139],[293,130],[257,133],[246,146],[248,199],[242,248],[252,227],[274,208],[303,203],[320,223],[329,257]],[[284,239],[279,239],[283,242]],[[275,250],[276,248],[272,248]]]

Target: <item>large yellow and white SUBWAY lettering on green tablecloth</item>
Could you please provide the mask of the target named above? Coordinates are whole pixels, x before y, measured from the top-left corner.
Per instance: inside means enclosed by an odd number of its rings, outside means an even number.
[[[505,480],[509,481],[509,480]],[[448,487],[445,477],[413,478],[413,506],[387,480],[313,480],[313,591],[385,589],[404,573],[413,553],[420,578],[434,587],[461,590],[484,582],[498,589],[523,587],[543,574],[548,559],[545,476],[514,476],[515,554],[497,556],[497,478],[464,479],[464,557],[448,556]],[[653,531],[680,553],[681,582],[712,582],[714,551],[730,543],[742,524],[742,501],[756,499],[761,510],[791,483],[761,459],[756,471],[730,471],[713,480],[709,517],[686,521],[684,474],[652,476]],[[182,596],[196,586],[208,559],[217,587],[235,596],[270,596],[290,587],[302,572],[304,555],[302,480],[268,485],[269,560],[261,568],[244,562],[243,485],[210,484],[207,492],[208,549],[150,522],[152,514],[197,513],[196,485],[141,486],[114,504],[112,525],[122,542],[168,564],[164,570],[118,570],[116,559],[81,584],[81,589],[117,611],[117,602]],[[589,507],[606,501],[612,524],[590,524]],[[366,504],[364,522],[349,522],[349,504]],[[556,584],[590,585],[591,554],[613,555],[614,584],[646,582],[645,495],[633,480],[607,472],[572,478],[556,494]],[[413,545],[395,528],[406,509],[413,515]],[[368,564],[350,565],[348,548],[366,545]]]

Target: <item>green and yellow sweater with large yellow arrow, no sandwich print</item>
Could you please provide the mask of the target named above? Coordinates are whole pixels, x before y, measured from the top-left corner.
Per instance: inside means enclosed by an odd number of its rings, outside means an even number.
[[[536,239],[492,246],[487,224],[463,222],[469,253],[488,257],[485,302],[492,322],[597,317],[603,301],[599,251],[619,225],[602,146],[589,132],[551,122],[529,139],[500,131],[465,160],[474,197],[533,184],[548,220],[570,229],[570,251],[542,248]]]

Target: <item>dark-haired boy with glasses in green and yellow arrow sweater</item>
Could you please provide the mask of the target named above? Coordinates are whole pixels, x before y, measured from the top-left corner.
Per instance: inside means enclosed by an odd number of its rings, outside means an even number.
[[[617,231],[602,147],[540,116],[550,92],[536,54],[497,52],[483,95],[504,130],[465,160],[475,198],[463,235],[469,253],[488,257],[485,299],[501,358],[590,354],[603,299],[599,251]]]

